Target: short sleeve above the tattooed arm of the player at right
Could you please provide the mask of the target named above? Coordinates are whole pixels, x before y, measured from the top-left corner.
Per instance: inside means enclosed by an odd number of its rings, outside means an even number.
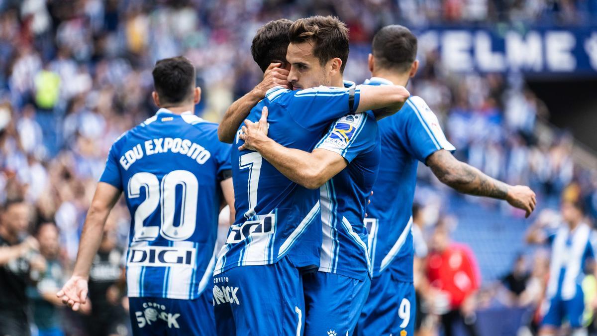
[[[444,132],[439,126],[438,117],[427,106],[421,97],[411,97],[407,100],[408,111],[404,118],[407,118],[405,128],[405,140],[407,150],[417,160],[425,163],[427,157],[439,149],[455,151],[456,148],[446,139]]]

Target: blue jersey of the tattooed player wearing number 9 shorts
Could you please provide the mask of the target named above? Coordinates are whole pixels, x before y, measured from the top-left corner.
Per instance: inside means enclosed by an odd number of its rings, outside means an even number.
[[[368,85],[391,85],[373,77]],[[381,159],[365,219],[373,276],[388,267],[399,280],[413,281],[413,199],[418,161],[439,149],[454,151],[438,118],[421,97],[411,96],[396,114],[378,121]]]

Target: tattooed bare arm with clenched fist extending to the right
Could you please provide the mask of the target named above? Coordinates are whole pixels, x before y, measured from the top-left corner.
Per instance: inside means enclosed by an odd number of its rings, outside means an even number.
[[[508,185],[485,175],[481,170],[458,161],[445,149],[429,155],[426,160],[443,184],[460,193],[506,200],[513,207],[525,210],[527,218],[535,209],[537,200],[531,188],[524,185]]]

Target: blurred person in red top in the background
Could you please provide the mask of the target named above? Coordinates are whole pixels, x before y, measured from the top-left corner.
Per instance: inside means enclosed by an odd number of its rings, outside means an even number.
[[[455,335],[458,321],[470,336],[479,335],[476,329],[476,292],[481,287],[479,268],[472,251],[451,242],[444,224],[436,225],[427,258],[429,290],[427,301],[440,315],[445,336]]]

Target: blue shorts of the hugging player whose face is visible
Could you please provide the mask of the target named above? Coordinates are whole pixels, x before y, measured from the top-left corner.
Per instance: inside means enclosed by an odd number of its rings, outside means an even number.
[[[371,279],[340,274],[304,274],[304,335],[352,335],[367,300]]]

